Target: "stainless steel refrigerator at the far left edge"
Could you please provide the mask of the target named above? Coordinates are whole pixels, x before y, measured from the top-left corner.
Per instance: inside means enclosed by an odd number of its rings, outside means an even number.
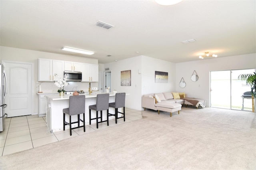
[[[8,116],[7,113],[4,112],[4,108],[7,107],[7,105],[4,102],[4,99],[6,97],[7,92],[7,81],[6,81],[6,74],[4,72],[4,65],[0,63],[0,132],[4,130],[4,119]]]

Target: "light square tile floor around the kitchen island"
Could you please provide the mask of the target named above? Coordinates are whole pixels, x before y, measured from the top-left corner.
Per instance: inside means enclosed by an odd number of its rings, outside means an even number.
[[[142,111],[125,108],[125,122],[124,119],[118,119],[116,124],[114,120],[110,120],[109,126],[106,122],[99,123],[98,129],[96,124],[86,125],[86,132],[83,128],[77,128],[72,130],[72,136],[70,136],[68,126],[66,126],[65,131],[48,132],[45,117],[38,117],[38,115],[6,118],[5,129],[0,132],[0,156],[95,132],[96,130],[111,128],[138,119],[142,119]]]

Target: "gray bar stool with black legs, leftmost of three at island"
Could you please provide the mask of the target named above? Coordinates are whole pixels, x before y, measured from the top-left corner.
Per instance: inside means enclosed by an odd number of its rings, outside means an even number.
[[[75,128],[84,127],[85,132],[85,95],[79,96],[70,96],[69,97],[69,108],[63,109],[63,130],[65,130],[65,126],[69,125],[70,136],[72,135],[71,130]],[[65,121],[65,114],[69,115],[69,123]],[[80,114],[83,114],[83,120],[80,119]],[[71,116],[77,115],[78,120],[77,122],[71,122]],[[84,124],[80,126],[80,121]],[[71,128],[71,124],[78,123],[78,127]]]

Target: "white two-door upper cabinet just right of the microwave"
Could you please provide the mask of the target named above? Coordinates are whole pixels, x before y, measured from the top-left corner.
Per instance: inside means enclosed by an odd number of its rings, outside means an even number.
[[[98,82],[98,64],[82,64],[82,81]]]

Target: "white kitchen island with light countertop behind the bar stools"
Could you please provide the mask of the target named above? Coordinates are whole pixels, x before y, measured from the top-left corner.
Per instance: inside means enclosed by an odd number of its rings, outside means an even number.
[[[89,106],[96,104],[96,97],[97,94],[79,94],[79,95],[85,95],[85,122],[86,125],[89,125]],[[64,108],[69,107],[69,97],[70,95],[64,95],[63,97],[60,97],[58,95],[46,95],[46,124],[50,132],[57,132],[60,130],[63,130],[63,112],[62,110]],[[110,93],[109,94],[109,103],[115,102],[115,94]],[[119,108],[121,111],[122,108]],[[109,113],[115,113],[114,108],[109,108]],[[92,118],[96,117],[96,111],[91,112]],[[82,117],[82,114],[80,115],[80,118]],[[66,115],[66,120],[69,120],[69,116]],[[72,122],[77,121],[77,116],[72,116]],[[103,111],[102,113],[102,120],[106,120],[106,111]],[[115,119],[114,116],[109,117],[110,119]],[[96,120],[92,120],[91,122],[96,123]],[[82,123],[80,123],[81,125]],[[77,123],[72,124],[72,127],[77,127]]]

